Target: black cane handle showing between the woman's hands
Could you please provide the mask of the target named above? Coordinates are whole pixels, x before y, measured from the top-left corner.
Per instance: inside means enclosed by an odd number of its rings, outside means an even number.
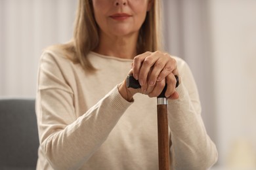
[[[179,76],[175,75],[176,78],[176,88],[179,86]],[[126,78],[126,86],[127,88],[141,88],[139,80],[136,80],[133,75],[128,75]],[[165,87],[163,88],[163,91],[160,93],[160,95],[158,95],[158,98],[160,97],[165,97],[165,91],[167,88],[167,84],[165,84]]]

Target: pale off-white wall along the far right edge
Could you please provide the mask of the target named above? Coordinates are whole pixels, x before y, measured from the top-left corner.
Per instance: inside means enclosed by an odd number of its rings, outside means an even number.
[[[256,169],[256,1],[209,1],[220,162]]]

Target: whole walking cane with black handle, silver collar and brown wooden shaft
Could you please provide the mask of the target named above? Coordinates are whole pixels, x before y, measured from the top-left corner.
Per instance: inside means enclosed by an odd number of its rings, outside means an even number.
[[[176,87],[179,86],[179,77],[175,75],[177,80]],[[126,80],[127,88],[140,88],[139,81],[136,80],[133,75],[128,75]],[[167,86],[163,88],[163,91],[158,95],[158,163],[159,170],[169,170],[169,129],[167,119],[167,99],[165,97],[165,91]]]

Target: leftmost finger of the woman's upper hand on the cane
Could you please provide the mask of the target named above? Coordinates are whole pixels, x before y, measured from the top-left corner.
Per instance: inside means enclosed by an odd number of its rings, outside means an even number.
[[[152,52],[144,52],[143,54],[140,54],[133,59],[132,69],[133,69],[133,76],[136,80],[139,80],[140,67],[144,62],[144,59],[150,54],[152,54]]]

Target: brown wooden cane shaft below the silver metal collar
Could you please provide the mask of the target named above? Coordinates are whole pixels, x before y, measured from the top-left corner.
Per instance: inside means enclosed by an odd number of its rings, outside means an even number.
[[[158,162],[159,170],[170,169],[167,105],[158,105]]]

